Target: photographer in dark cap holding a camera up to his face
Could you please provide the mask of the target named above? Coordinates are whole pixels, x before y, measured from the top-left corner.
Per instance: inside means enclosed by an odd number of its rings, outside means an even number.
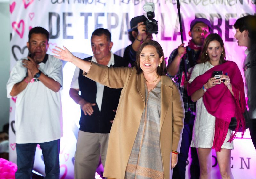
[[[127,46],[124,51],[124,59],[131,65],[136,61],[136,52],[139,51],[141,44],[152,39],[152,34],[146,32],[145,22],[148,20],[144,15],[136,16],[130,21],[131,29],[128,30],[131,45]]]

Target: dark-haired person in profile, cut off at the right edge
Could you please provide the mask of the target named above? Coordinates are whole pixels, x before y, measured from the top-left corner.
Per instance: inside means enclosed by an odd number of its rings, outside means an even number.
[[[256,16],[247,15],[236,20],[235,38],[238,46],[247,47],[245,50],[246,58],[243,63],[243,70],[247,88],[248,107],[249,107],[249,130],[253,145],[256,149]]]

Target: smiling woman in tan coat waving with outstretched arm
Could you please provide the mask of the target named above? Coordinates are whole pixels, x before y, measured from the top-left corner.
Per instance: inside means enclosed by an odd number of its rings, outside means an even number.
[[[110,131],[104,177],[172,178],[183,130],[184,107],[177,85],[167,77],[160,44],[149,40],[137,52],[133,68],[108,68],[82,61],[65,47],[57,58],[84,70],[84,76],[111,88],[123,88]]]

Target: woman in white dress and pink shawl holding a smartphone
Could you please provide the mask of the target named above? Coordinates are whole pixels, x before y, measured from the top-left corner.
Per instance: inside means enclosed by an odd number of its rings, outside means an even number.
[[[211,178],[212,148],[216,150],[222,178],[233,178],[230,168],[232,140],[239,129],[243,131],[242,136],[245,130],[242,75],[236,63],[225,58],[221,37],[208,35],[188,84],[188,95],[192,101],[197,101],[191,147],[197,148],[200,179]],[[237,119],[235,131],[228,129],[232,117]]]

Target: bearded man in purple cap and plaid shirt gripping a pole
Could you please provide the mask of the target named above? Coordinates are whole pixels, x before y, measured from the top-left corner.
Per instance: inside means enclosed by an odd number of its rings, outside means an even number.
[[[179,85],[185,108],[180,153],[178,155],[178,163],[176,167],[173,168],[173,178],[175,179],[185,179],[186,161],[188,159],[188,151],[192,140],[192,130],[195,120],[196,103],[192,102],[190,96],[187,94],[189,72],[191,72],[192,67],[196,65],[196,61],[199,58],[201,48],[204,44],[204,39],[209,34],[210,27],[211,23],[209,20],[205,18],[194,19],[190,24],[190,31],[188,32],[188,35],[191,37],[188,46],[184,47],[185,44],[181,44],[172,51],[168,60],[168,75],[174,78],[177,85]],[[186,64],[186,66],[184,66],[184,64]],[[187,71],[186,75],[185,71]],[[187,79],[185,76],[187,76]],[[200,169],[196,148],[191,147],[191,157],[191,179],[199,179]]]

